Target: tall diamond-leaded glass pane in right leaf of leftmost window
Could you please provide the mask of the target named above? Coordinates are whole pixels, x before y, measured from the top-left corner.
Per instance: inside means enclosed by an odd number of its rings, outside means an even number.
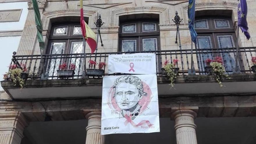
[[[71,43],[71,54],[83,53],[83,42],[72,42]],[[83,72],[83,58],[81,55],[75,55],[75,58],[71,58],[70,64],[75,65],[75,75],[81,75]],[[78,77],[79,78],[79,77]]]

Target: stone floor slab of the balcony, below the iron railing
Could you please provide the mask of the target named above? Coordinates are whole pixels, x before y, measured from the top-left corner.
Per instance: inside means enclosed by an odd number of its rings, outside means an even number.
[[[233,74],[223,81],[221,88],[210,75],[179,76],[170,89],[164,76],[157,77],[158,95],[256,95],[256,74]],[[1,81],[3,89],[13,99],[49,99],[101,97],[102,78],[27,80],[25,88],[13,86],[12,81]]]

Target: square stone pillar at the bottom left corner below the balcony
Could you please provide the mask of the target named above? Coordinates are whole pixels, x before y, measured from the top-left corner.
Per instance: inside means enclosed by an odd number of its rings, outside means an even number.
[[[27,125],[21,112],[0,113],[0,144],[20,144]]]

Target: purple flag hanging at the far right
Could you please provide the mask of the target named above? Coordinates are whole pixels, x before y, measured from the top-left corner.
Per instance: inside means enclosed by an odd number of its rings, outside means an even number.
[[[241,28],[242,32],[246,36],[247,40],[250,39],[250,34],[248,33],[248,23],[246,20],[247,17],[247,3],[246,0],[240,0],[238,3],[238,26]]]

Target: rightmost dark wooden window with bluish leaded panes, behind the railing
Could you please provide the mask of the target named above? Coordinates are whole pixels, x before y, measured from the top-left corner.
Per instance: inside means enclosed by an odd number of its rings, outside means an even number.
[[[198,33],[197,49],[200,71],[204,71],[205,60],[221,56],[226,71],[232,73],[235,69],[235,57],[227,48],[234,48],[236,35],[230,18],[203,17],[195,20],[195,30]],[[216,51],[222,51],[217,53]],[[214,51],[214,53],[213,53]]]

